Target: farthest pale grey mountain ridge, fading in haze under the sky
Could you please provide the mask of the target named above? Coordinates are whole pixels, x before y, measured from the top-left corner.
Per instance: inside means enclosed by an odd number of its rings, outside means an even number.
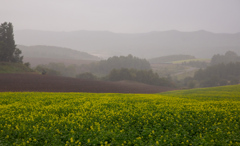
[[[204,30],[138,34],[17,30],[15,40],[17,44],[61,46],[104,58],[128,54],[147,59],[175,54],[211,58],[214,54],[224,54],[228,50],[240,54],[240,33],[211,33]]]

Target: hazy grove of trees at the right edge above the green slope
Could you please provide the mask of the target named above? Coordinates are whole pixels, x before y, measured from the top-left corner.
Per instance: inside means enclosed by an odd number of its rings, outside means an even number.
[[[199,69],[194,77],[187,77],[183,82],[189,88],[239,84],[240,56],[233,51],[214,55],[209,66]]]

